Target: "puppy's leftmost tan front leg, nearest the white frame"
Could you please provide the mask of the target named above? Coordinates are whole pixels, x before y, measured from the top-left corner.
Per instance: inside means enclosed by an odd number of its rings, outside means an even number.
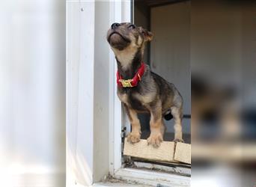
[[[138,120],[138,114],[132,108],[129,108],[126,104],[124,104],[127,114],[129,117],[129,122],[132,124],[132,132],[127,135],[127,141],[129,143],[136,143],[141,139],[141,123]]]

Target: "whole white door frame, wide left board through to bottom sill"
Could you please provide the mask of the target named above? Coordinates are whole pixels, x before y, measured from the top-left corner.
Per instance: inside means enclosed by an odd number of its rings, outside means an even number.
[[[100,50],[108,52],[109,58],[96,57],[99,55],[97,42],[101,45],[106,42],[106,37],[102,34],[103,30],[96,29],[99,25],[96,25],[95,20],[97,23],[99,20],[104,23],[103,21],[108,19],[109,25],[113,22],[131,22],[132,1],[101,1],[106,3],[105,5],[99,5],[98,2],[67,0],[67,186],[91,186],[108,174],[144,184],[156,185],[156,179],[159,179],[157,183],[189,186],[189,177],[177,177],[172,174],[162,176],[157,172],[122,167],[121,130],[126,126],[129,132],[130,125],[116,94],[115,56],[110,47],[104,46]],[[96,14],[102,12],[105,14]],[[109,87],[104,87],[100,93],[94,93],[98,86],[96,83],[106,76],[97,75],[99,72],[95,69],[99,65],[108,68],[108,71],[103,70],[104,73],[109,73],[109,80],[103,80],[103,84],[108,84]],[[109,92],[108,96],[106,92]],[[108,99],[103,108],[98,106],[101,103],[95,104],[99,98]],[[100,117],[101,109],[104,114],[109,112],[109,121],[104,121],[104,124],[99,124],[99,120],[95,118]],[[100,132],[103,125],[104,130],[109,129],[109,132],[106,132],[107,142],[99,140],[102,138],[100,135],[103,135]]]

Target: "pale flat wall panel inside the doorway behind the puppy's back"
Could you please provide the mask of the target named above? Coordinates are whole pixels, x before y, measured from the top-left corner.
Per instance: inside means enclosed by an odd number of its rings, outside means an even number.
[[[190,2],[151,8],[151,70],[174,83],[183,96],[183,113],[190,114]],[[174,120],[166,121],[174,132]],[[190,133],[190,120],[183,119],[183,132]]]

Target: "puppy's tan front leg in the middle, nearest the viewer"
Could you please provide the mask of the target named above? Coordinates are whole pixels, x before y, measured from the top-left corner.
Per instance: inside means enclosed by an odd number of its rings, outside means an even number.
[[[163,141],[165,126],[162,120],[162,104],[157,102],[150,108],[150,137],[147,138],[147,144],[153,147],[159,147]]]

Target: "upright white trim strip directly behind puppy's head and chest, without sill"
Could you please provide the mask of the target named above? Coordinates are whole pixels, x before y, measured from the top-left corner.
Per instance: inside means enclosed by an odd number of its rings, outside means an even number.
[[[113,22],[130,22],[131,19],[131,1],[115,0],[110,3],[109,25]],[[110,70],[110,91],[109,91],[109,173],[115,174],[115,171],[121,168],[121,129],[127,126],[129,131],[129,120],[124,113],[121,102],[117,96],[116,72],[118,70],[113,52],[109,54]]]

